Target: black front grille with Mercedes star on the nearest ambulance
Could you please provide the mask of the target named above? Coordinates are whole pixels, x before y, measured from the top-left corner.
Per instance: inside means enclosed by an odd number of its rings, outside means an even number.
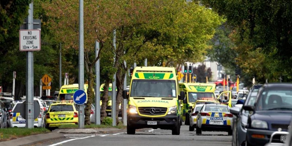
[[[138,110],[145,115],[164,115],[167,112],[166,107],[138,107]]]

